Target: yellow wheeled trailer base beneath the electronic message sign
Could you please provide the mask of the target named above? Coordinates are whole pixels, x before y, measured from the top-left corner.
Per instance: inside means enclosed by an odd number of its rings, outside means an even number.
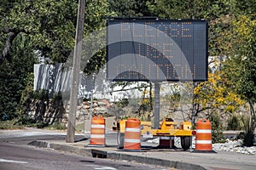
[[[117,122],[117,140],[119,149],[124,147],[125,122],[126,120],[120,120]],[[160,127],[158,129],[154,129],[151,126],[151,122],[141,122],[141,136],[143,138],[150,139],[170,137],[169,139],[173,139],[171,137],[180,137],[183,150],[189,149],[191,145],[191,138],[195,135],[195,131],[192,130],[191,122],[181,122],[179,126],[177,126],[177,122],[173,122],[172,118],[165,117],[163,121],[160,122]],[[172,142],[170,142],[170,144],[172,144]]]

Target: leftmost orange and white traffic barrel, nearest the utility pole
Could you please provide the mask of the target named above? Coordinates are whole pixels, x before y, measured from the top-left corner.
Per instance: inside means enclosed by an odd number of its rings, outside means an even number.
[[[91,119],[89,145],[105,145],[105,118],[103,116],[93,116]]]

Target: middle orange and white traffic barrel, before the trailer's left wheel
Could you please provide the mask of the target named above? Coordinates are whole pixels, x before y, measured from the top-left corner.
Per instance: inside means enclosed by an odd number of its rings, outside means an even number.
[[[125,122],[124,150],[141,150],[141,122],[129,118]]]

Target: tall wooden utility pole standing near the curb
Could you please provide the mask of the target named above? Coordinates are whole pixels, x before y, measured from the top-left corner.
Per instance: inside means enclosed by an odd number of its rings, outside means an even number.
[[[85,0],[79,0],[78,19],[75,37],[75,48],[73,53],[73,73],[72,73],[72,85],[70,94],[70,108],[68,113],[67,122],[67,143],[74,142],[75,124],[76,124],[76,112],[78,105],[78,93],[79,93],[79,72],[80,62],[82,55],[82,40],[84,32],[84,11]]]

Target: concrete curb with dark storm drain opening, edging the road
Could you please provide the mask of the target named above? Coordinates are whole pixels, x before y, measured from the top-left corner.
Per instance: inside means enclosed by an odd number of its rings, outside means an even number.
[[[71,152],[74,154],[78,154],[80,156],[90,156],[90,157],[98,157],[98,158],[108,158],[113,160],[125,160],[125,161],[137,161],[139,163],[163,166],[163,167],[174,167],[177,169],[190,169],[190,170],[207,170],[207,167],[201,167],[200,165],[191,164],[183,161],[169,161],[154,157],[147,156],[131,156],[129,154],[125,154],[122,152],[113,152],[106,151],[101,149],[90,149],[90,148],[81,148],[79,146],[73,146],[69,144],[55,144],[47,141],[35,140],[29,143],[34,146],[51,148],[54,150],[62,150]]]

